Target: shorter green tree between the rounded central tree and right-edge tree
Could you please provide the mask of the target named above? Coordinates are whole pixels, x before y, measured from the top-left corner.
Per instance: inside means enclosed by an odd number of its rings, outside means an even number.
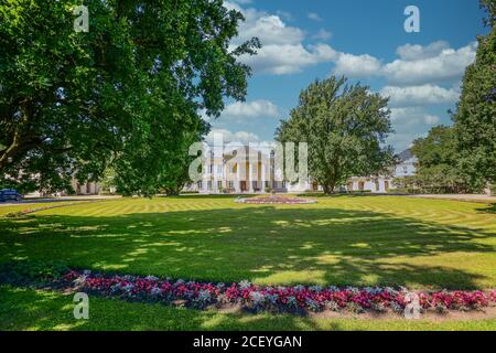
[[[412,153],[418,158],[414,176],[396,181],[401,186],[422,193],[460,193],[471,191],[459,169],[454,130],[438,126],[425,138],[413,141]]]

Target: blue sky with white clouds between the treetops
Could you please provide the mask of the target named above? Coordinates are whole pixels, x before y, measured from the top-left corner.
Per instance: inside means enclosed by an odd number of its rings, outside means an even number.
[[[451,124],[476,35],[485,34],[477,0],[229,0],[246,21],[233,45],[258,36],[245,103],[229,101],[209,119],[228,141],[269,141],[279,120],[315,78],[345,75],[390,97],[397,152],[432,126]],[[407,6],[420,10],[420,32],[407,33]],[[207,118],[207,117],[206,117]],[[208,119],[208,118],[207,118]]]

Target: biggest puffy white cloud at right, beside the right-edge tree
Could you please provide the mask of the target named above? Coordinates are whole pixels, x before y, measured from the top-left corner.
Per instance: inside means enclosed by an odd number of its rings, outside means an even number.
[[[397,52],[401,58],[385,65],[382,75],[393,85],[457,81],[475,60],[477,44],[474,42],[459,50],[445,46],[443,42],[434,42],[427,47],[400,46]]]

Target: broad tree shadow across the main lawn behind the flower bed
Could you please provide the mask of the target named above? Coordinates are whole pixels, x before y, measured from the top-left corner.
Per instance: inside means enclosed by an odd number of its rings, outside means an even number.
[[[57,259],[129,274],[285,285],[468,289],[494,281],[464,258],[494,253],[487,244],[494,233],[366,211],[246,206],[36,215],[0,220],[0,261]]]

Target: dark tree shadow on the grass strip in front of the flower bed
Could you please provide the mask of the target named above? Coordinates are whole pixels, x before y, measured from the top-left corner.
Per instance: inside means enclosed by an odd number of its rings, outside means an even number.
[[[91,297],[89,320],[76,320],[73,296],[32,289],[0,287],[0,330],[316,330],[309,318],[290,314],[223,313],[161,303],[131,303]],[[339,329],[337,324],[331,329]]]

